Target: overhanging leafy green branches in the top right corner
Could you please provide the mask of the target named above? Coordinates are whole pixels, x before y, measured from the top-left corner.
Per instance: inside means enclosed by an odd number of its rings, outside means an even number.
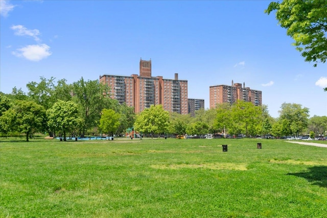
[[[302,52],[305,61],[325,63],[327,58],[327,1],[284,0],[271,2],[265,13],[276,10],[276,19]],[[325,88],[326,90],[327,88]]]

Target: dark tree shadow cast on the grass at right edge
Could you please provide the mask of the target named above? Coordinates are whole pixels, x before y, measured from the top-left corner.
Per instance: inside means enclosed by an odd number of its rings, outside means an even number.
[[[327,188],[327,166],[313,166],[309,171],[301,173],[289,173],[287,175],[302,177],[311,182],[312,185],[319,185]]]

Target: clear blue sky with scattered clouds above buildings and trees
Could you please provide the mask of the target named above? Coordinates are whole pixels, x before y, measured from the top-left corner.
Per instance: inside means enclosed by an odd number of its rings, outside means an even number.
[[[209,86],[233,80],[261,90],[273,117],[283,103],[325,116],[327,63],[304,61],[264,13],[270,2],[1,0],[0,90],[27,92],[40,77],[130,76],[151,58],[152,76],[178,73],[205,108]]]

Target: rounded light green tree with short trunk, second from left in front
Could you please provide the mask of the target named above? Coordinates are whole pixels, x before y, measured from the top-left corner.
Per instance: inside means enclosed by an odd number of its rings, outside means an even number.
[[[82,123],[78,105],[72,101],[59,100],[46,113],[48,126],[54,132],[63,132],[64,141],[66,141],[66,132],[73,132]]]

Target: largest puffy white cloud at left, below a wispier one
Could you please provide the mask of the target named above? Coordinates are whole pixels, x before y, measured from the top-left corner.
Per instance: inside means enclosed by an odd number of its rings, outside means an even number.
[[[17,57],[24,57],[30,61],[40,61],[52,53],[50,52],[50,46],[46,44],[32,44],[17,49],[17,52],[12,52]]]

